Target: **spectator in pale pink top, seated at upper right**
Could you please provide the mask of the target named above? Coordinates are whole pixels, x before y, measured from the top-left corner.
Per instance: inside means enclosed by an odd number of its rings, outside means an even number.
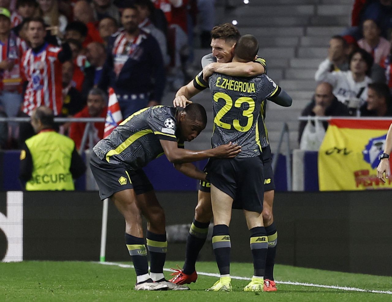
[[[389,54],[391,44],[380,36],[381,30],[374,20],[365,20],[362,29],[363,39],[358,41],[358,45],[373,56],[375,64],[379,64],[381,58],[385,58]]]

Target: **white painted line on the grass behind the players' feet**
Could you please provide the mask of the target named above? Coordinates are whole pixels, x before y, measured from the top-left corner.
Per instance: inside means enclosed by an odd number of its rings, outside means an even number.
[[[130,264],[121,264],[121,263],[115,263],[115,262],[94,262],[94,263],[99,263],[99,264],[103,264],[103,265],[114,265],[114,266],[119,266],[119,267],[124,267],[124,268],[134,268],[134,266],[130,265]],[[168,269],[168,268],[163,268],[163,270],[164,271],[172,271],[171,269]],[[208,277],[220,277],[219,274],[214,274],[214,273],[198,272],[197,274],[198,275],[203,275],[203,276],[208,276]],[[237,280],[250,280],[250,278],[247,278],[247,277],[239,277],[239,276],[230,276],[230,277],[232,279],[237,279]],[[276,281],[276,280],[275,280],[275,282],[279,283],[279,284],[313,286],[313,287],[342,289],[342,290],[345,290],[345,291],[363,291],[363,292],[366,292],[366,293],[377,293],[377,294],[392,295],[392,291],[377,291],[377,290],[363,289],[363,288],[357,288],[357,287],[322,285],[322,284],[314,284],[314,283],[302,283],[302,282],[291,282],[291,281]]]

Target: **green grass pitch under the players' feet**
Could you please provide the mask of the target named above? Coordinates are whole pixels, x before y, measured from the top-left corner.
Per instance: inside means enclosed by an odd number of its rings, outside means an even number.
[[[182,265],[182,263],[178,263]],[[165,268],[176,267],[167,262]],[[198,262],[197,270],[217,273],[215,263]],[[169,272],[165,272],[169,278]],[[252,264],[232,263],[231,275],[251,277]],[[391,291],[392,277],[339,273],[276,265],[275,279],[328,286],[357,287],[367,290]],[[233,291],[206,292],[217,277],[199,275],[191,291],[134,291],[136,277],[134,270],[119,266],[107,266],[94,262],[41,262],[27,261],[0,263],[1,302],[59,302],[59,301],[159,301],[159,302],[217,302],[223,301],[265,301],[265,302],[383,302],[392,301],[392,295],[330,289],[314,286],[277,284],[277,292],[245,293],[247,280],[232,280]]]

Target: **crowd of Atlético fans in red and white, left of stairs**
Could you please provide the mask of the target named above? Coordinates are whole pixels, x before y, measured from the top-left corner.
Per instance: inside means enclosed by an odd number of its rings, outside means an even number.
[[[209,45],[213,2],[0,1],[0,115],[27,117],[45,105],[55,116],[105,117],[107,107],[102,104],[107,103],[109,86],[124,118],[160,104],[164,89],[178,89],[189,80],[186,66],[193,39],[189,28],[196,24],[198,11],[208,10],[200,32],[201,43]],[[134,10],[123,16],[129,5]],[[132,62],[125,64],[128,58]],[[100,105],[89,100],[91,95],[103,98]],[[1,125],[1,149],[20,148],[34,135],[29,123]],[[103,137],[103,125],[98,125],[96,141]],[[80,147],[82,128],[66,123],[60,133]]]

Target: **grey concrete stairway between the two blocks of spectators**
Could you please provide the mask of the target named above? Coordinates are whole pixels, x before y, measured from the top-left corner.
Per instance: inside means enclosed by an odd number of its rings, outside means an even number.
[[[260,43],[259,55],[267,60],[268,75],[293,98],[290,108],[269,102],[267,127],[272,151],[276,151],[283,123],[290,129],[290,147],[298,147],[298,116],[312,98],[316,83],[314,73],[327,57],[331,36],[339,34],[348,24],[352,0],[231,0],[236,8],[227,10],[217,0],[217,23],[236,20],[241,34],[252,34]],[[195,49],[194,67],[200,69],[200,58],[211,49]],[[170,105],[174,93],[165,95]],[[212,132],[211,95],[203,91],[194,97],[207,109],[209,123],[200,137],[189,144],[191,149],[210,146]]]

